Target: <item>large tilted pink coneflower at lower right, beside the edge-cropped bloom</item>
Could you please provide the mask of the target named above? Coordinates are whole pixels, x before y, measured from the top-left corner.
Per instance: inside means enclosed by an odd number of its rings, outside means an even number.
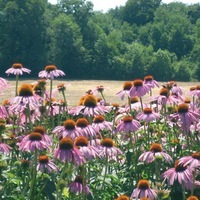
[[[168,180],[169,185],[173,185],[175,181],[178,181],[180,185],[183,185],[186,189],[190,189],[193,183],[193,174],[191,168],[180,164],[180,161],[175,162],[174,168],[170,168],[165,171],[161,177],[164,180]]]

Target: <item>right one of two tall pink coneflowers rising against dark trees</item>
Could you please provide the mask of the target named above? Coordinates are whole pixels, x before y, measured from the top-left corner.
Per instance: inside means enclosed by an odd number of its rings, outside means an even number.
[[[58,70],[55,65],[47,65],[45,70],[39,72],[40,78],[54,79],[54,77],[64,76],[65,73],[62,70]]]

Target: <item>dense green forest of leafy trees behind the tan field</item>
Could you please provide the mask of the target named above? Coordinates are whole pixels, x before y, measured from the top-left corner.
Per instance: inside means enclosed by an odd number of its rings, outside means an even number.
[[[128,0],[102,13],[85,0],[0,0],[0,76],[15,62],[32,78],[55,64],[68,79],[199,81],[200,4]]]

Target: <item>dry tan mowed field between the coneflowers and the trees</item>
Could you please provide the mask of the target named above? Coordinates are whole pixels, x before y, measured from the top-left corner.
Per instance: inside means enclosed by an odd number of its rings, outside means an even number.
[[[6,88],[0,96],[1,102],[5,99],[9,99],[15,96],[15,81],[7,79],[9,82],[9,87]],[[19,80],[19,86],[23,83],[36,83],[37,80]],[[69,105],[75,106],[78,104],[79,99],[82,95],[85,94],[88,90],[94,90],[97,86],[104,86],[104,96],[108,103],[119,103],[124,104],[126,100],[121,101],[120,98],[116,95],[117,92],[123,89],[123,83],[125,81],[108,81],[108,80],[67,80],[67,79],[59,79],[53,80],[53,89],[57,88],[57,85],[60,83],[66,84],[66,99]],[[160,88],[166,82],[159,82]],[[189,91],[190,87],[200,85],[200,82],[177,82],[177,85],[182,87],[184,94]],[[153,95],[158,95],[160,88],[153,89]],[[50,89],[50,82],[47,81],[46,85],[47,91]],[[62,99],[62,95],[59,92],[54,92],[54,97],[59,100]],[[101,97],[98,93],[97,97]],[[187,95],[184,95],[188,97]],[[148,100],[149,96],[146,95],[144,97],[144,101]]]

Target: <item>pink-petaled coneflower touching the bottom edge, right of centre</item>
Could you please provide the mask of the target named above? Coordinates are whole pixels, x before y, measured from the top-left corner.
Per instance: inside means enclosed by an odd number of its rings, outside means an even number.
[[[143,198],[148,197],[150,200],[154,200],[157,198],[156,191],[150,188],[150,183],[146,179],[139,180],[137,184],[137,188],[133,190],[131,194],[131,199],[133,198]]]

